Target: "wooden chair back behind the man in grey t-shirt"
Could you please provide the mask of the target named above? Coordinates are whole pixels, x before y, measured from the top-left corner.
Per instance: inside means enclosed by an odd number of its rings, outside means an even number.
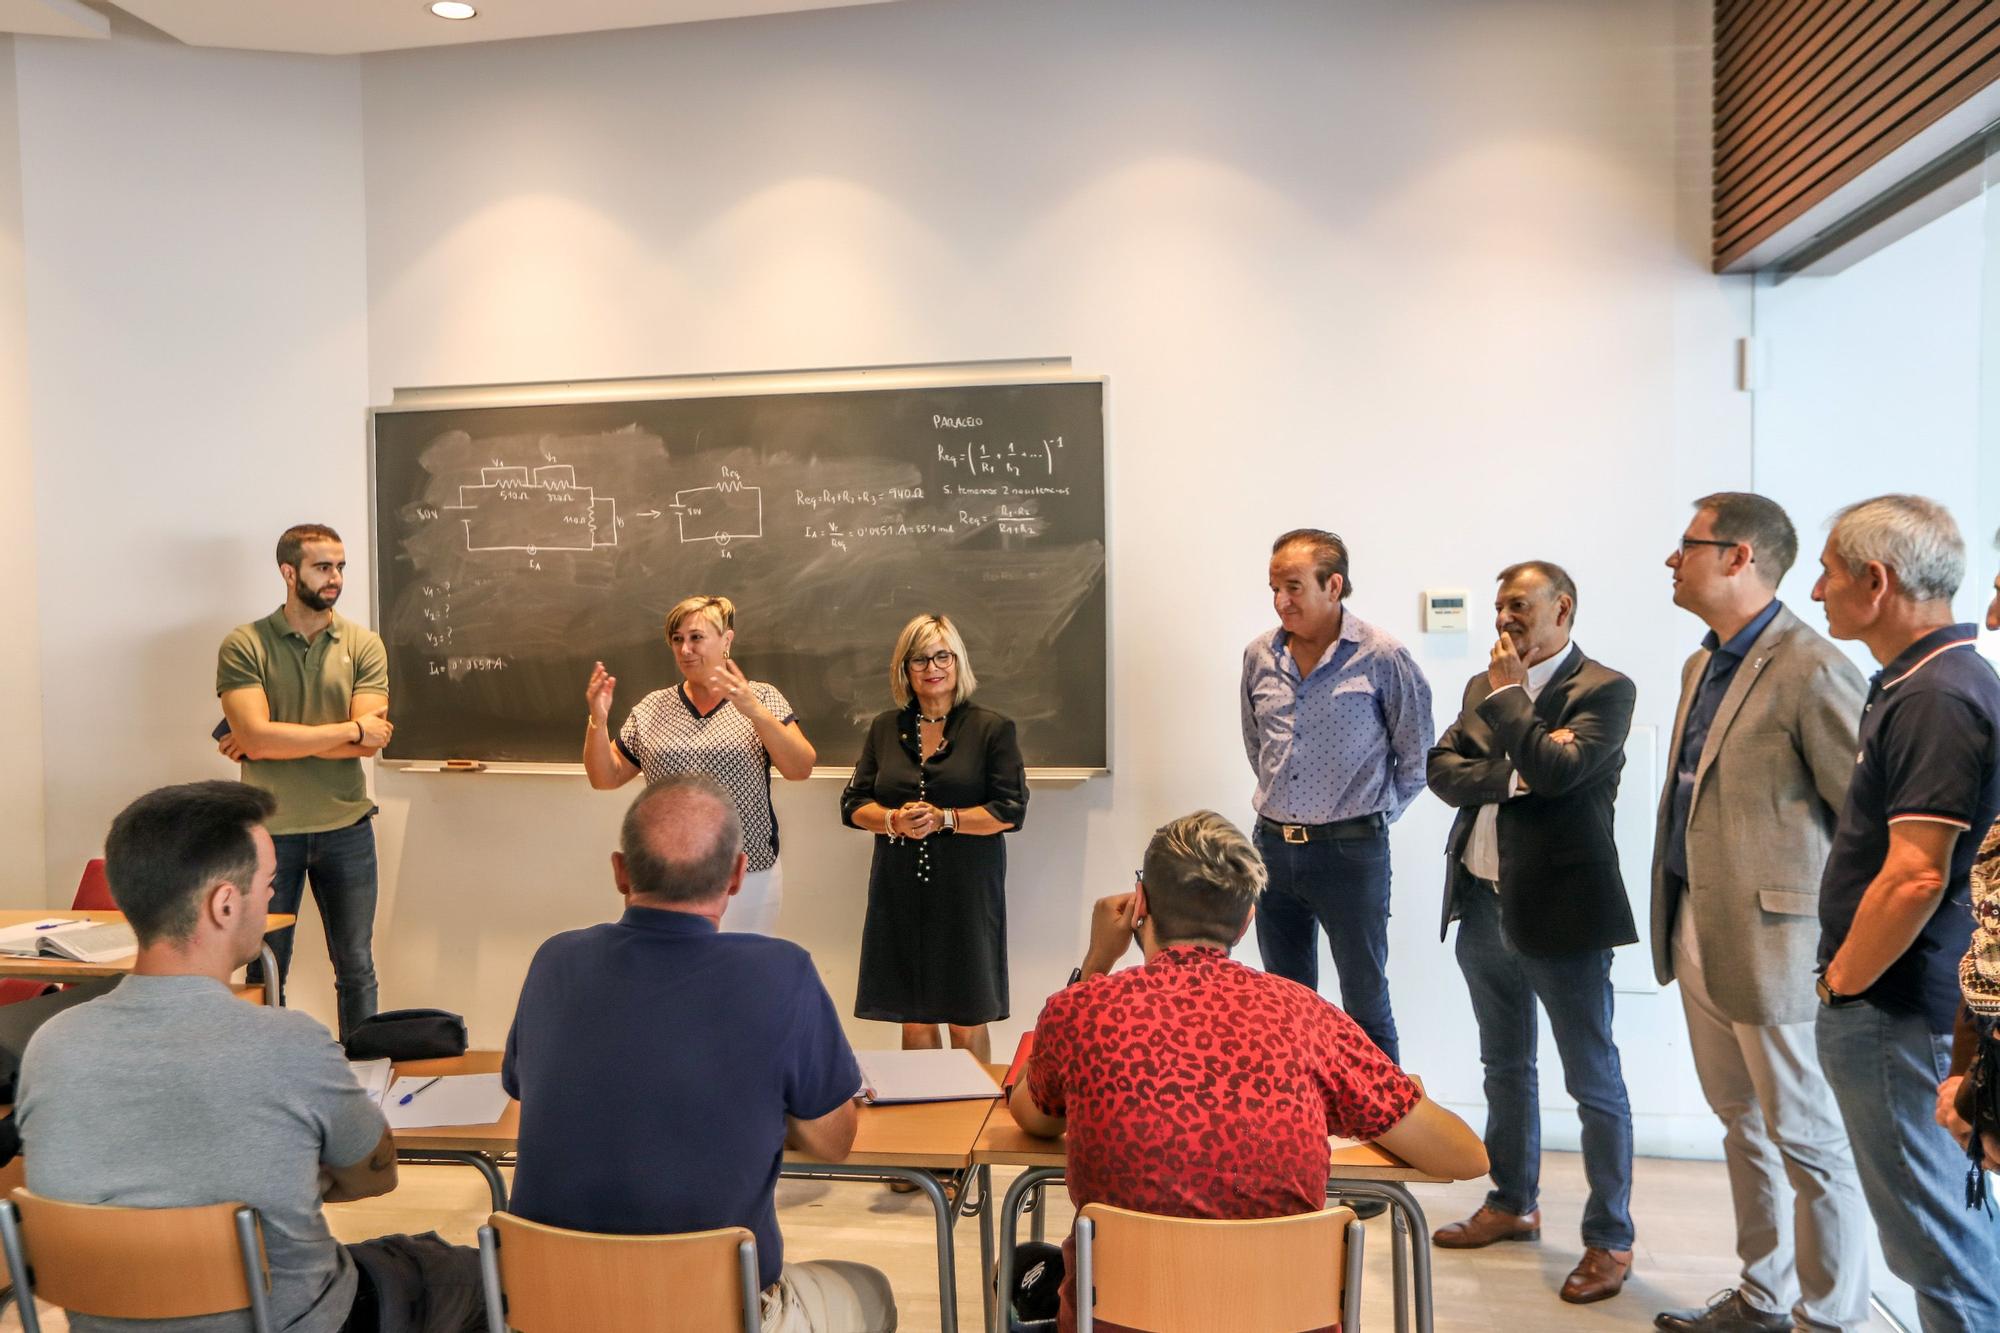
[[[0,1201],[0,1251],[16,1279],[22,1333],[42,1333],[36,1297],[100,1319],[246,1309],[256,1333],[272,1333],[264,1231],[242,1203],[122,1209],[16,1189]]]

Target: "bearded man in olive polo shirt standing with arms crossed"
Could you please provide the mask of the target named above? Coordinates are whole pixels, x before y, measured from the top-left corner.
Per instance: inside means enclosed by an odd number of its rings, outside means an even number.
[[[238,624],[216,654],[222,753],[242,779],[278,799],[266,821],[278,849],[270,911],[296,913],[306,881],[334,961],[340,1037],[376,1011],[374,803],[362,759],[388,745],[388,652],[382,638],[334,614],[348,554],[318,522],[278,538],[284,606]],[[278,975],[292,965],[292,931],[274,931]],[[252,965],[252,975],[258,971]]]

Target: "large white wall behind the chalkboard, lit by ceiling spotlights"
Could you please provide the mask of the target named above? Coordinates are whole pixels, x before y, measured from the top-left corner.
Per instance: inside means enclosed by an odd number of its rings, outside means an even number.
[[[1350,538],[1354,608],[1416,648],[1440,725],[1486,632],[1422,640],[1418,588],[1566,562],[1658,767],[1698,632],[1658,562],[1684,496],[1748,480],[1748,300],[1702,260],[1706,6],[916,2],[380,56],[362,86],[376,402],[1038,354],[1110,376],[1116,773],[1036,791],[1012,841],[1002,1047],[1158,821],[1248,813],[1232,697],[1286,526]],[[1628,781],[1634,869],[1656,781]],[[532,947],[614,911],[622,801],[378,791],[384,1001],[494,1041]],[[780,793],[782,929],[846,1005],[868,841],[836,791]],[[1478,1105],[1446,827],[1426,797],[1396,829],[1392,979],[1410,1065]],[[1678,999],[1638,951],[1618,975],[1642,1145],[1706,1149]]]

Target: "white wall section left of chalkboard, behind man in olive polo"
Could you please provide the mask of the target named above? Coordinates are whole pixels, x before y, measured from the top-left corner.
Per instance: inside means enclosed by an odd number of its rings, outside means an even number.
[[[16,64],[40,787],[68,905],[126,801],[232,777],[206,741],[216,644],[282,600],[278,532],[350,532],[366,588],[360,70],[150,30],[20,38]]]

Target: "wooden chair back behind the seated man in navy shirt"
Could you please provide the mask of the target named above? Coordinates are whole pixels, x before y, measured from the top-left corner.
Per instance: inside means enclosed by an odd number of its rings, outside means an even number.
[[[758,1333],[744,1227],[598,1235],[494,1213],[480,1227],[488,1333]]]

